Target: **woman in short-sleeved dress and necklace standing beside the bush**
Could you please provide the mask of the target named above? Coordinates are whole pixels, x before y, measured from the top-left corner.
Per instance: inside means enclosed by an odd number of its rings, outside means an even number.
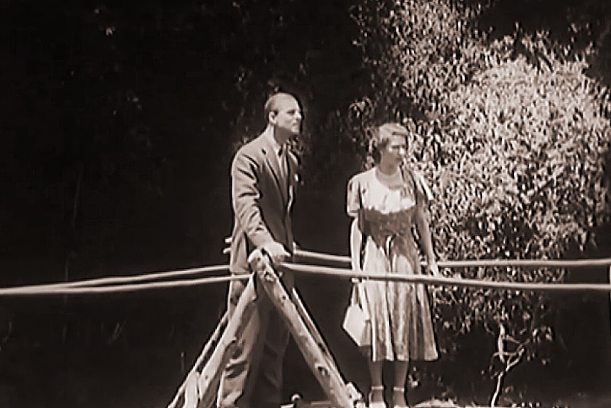
[[[380,126],[371,140],[375,165],[349,181],[347,212],[352,223],[353,268],[366,272],[420,274],[416,226],[427,271],[439,274],[428,226],[430,190],[403,163],[408,130],[398,123]],[[362,255],[362,262],[361,262]],[[360,268],[362,265],[362,268]],[[394,366],[393,407],[408,407],[405,380],[410,360],[435,360],[437,347],[425,287],[407,282],[366,280],[362,299],[371,315],[367,348],[371,375],[370,408],[386,408],[382,371]]]

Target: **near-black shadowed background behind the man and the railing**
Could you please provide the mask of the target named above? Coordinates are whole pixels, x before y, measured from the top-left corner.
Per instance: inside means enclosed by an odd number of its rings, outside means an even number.
[[[274,89],[296,93],[306,113],[297,241],[347,254],[344,188],[362,150],[338,118],[369,89],[348,7],[1,1],[1,285],[226,263],[230,159],[262,130]],[[365,362],[340,329],[348,282],[299,277],[298,287],[344,376],[366,390]],[[165,406],[225,290],[1,298],[0,407]],[[550,397],[542,381],[547,399],[598,392],[608,378],[608,297],[571,299],[567,310],[585,304],[588,319],[569,316],[566,332],[581,336],[567,337],[574,361],[556,373],[570,387]],[[293,343],[286,368],[287,402],[323,397]]]

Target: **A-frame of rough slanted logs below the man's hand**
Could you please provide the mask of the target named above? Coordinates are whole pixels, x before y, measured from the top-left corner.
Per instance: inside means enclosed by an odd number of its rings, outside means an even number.
[[[278,309],[288,330],[291,332],[304,360],[323,387],[328,397],[325,402],[304,402],[301,397],[293,397],[289,407],[334,407],[364,408],[361,393],[352,383],[344,382],[339,368],[327,345],[310,318],[297,291],[289,294],[271,263],[259,250],[249,257],[253,270],[244,292],[240,296],[230,319],[223,316],[211,338],[204,346],[193,368],[176,392],[168,408],[211,408],[218,392],[220,373],[235,352],[238,339],[242,336],[247,321],[254,311],[257,294],[254,280],[264,288],[267,296]],[[286,407],[286,405],[283,405]],[[280,408],[280,407],[279,407]]]

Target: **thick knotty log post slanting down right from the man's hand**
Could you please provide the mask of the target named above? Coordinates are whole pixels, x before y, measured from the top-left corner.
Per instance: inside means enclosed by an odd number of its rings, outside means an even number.
[[[254,269],[259,276],[259,282],[267,292],[272,304],[284,317],[284,321],[301,350],[303,358],[310,366],[310,370],[323,387],[333,406],[336,408],[354,408],[356,404],[354,386],[344,384],[335,363],[330,363],[330,356],[327,358],[327,355],[321,351],[320,346],[308,330],[308,326],[303,322],[295,304],[291,302],[284,285],[282,285],[267,259],[258,251],[253,253],[251,257],[259,260],[257,267]]]

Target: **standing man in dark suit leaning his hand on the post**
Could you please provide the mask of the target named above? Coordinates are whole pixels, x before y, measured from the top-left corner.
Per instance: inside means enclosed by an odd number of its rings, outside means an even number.
[[[264,132],[242,146],[231,165],[230,272],[235,274],[251,272],[247,258],[254,249],[266,253],[275,265],[293,251],[290,210],[298,162],[287,142],[300,132],[301,107],[291,94],[278,93],[267,100],[265,116]],[[284,275],[283,282],[292,287],[293,276]],[[244,285],[230,282],[230,316]],[[219,408],[277,408],[281,404],[282,360],[289,333],[262,287],[257,287],[256,302],[257,309],[221,376]]]

